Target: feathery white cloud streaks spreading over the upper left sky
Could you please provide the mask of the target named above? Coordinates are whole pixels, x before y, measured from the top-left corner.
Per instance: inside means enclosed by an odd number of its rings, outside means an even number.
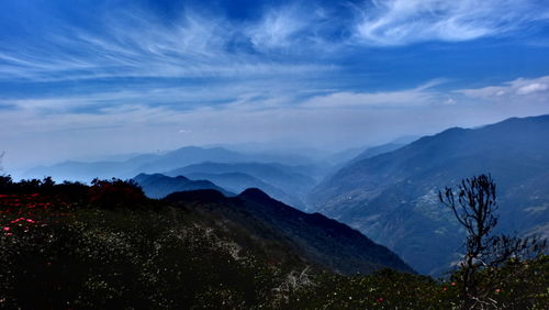
[[[171,23],[139,10],[115,11],[94,30],[66,25],[33,45],[0,46],[1,79],[295,76],[334,69],[271,59],[238,44],[250,41],[260,52],[290,44],[305,24],[285,12],[269,11],[261,21],[243,26],[192,10]]]

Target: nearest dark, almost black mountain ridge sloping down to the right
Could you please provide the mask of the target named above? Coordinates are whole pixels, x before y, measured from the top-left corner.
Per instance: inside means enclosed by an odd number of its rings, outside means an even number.
[[[343,274],[368,274],[382,267],[413,273],[397,255],[360,232],[320,213],[288,207],[259,189],[247,189],[233,198],[215,190],[183,191],[165,200],[219,218],[227,232],[236,230],[264,244],[271,257],[294,253],[307,264]]]

